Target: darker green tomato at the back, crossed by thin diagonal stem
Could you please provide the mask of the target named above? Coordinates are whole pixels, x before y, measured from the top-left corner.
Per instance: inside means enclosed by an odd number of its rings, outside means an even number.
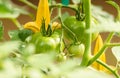
[[[78,21],[74,16],[70,16],[66,18],[64,21],[65,26],[67,26],[77,37],[79,41],[85,40],[85,22],[84,21]],[[75,37],[67,30],[64,29],[64,37],[65,39],[68,39],[69,41],[74,41]]]

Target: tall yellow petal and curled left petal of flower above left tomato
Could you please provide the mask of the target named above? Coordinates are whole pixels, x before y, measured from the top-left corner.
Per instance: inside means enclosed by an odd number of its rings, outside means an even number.
[[[39,0],[36,20],[34,22],[28,22],[24,25],[24,28],[30,29],[33,32],[39,32],[43,19],[45,19],[45,28],[48,28],[50,23],[50,13],[48,0]]]

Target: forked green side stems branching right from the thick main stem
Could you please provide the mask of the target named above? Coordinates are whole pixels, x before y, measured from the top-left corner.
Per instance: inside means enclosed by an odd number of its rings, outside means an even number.
[[[91,58],[91,59],[89,60],[87,66],[91,65],[94,61],[96,61],[97,63],[101,64],[101,65],[104,66],[106,69],[108,69],[111,73],[113,73],[113,74],[116,76],[116,78],[120,78],[120,77],[119,77],[119,74],[118,74],[118,72],[116,72],[116,70],[113,70],[113,69],[112,69],[110,66],[108,66],[106,63],[104,63],[104,62],[102,62],[102,61],[100,61],[100,60],[98,59],[98,58],[100,57],[100,55],[102,55],[102,53],[106,50],[107,47],[109,47],[109,46],[119,46],[119,45],[120,45],[120,44],[118,44],[118,43],[110,43],[113,35],[114,35],[114,32],[111,32],[111,33],[109,34],[109,36],[107,37],[107,39],[106,39],[103,47],[100,49],[100,51],[99,51],[93,58]]]

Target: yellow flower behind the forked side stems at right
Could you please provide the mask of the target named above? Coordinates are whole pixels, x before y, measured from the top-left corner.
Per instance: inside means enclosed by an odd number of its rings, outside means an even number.
[[[101,36],[98,35],[97,40],[96,40],[96,43],[95,43],[93,55],[97,54],[98,51],[102,48],[102,46],[103,46],[103,40],[102,40]],[[103,61],[103,62],[106,62],[105,53],[103,53],[103,54],[99,57],[99,59],[100,59],[101,61]],[[106,70],[102,65],[98,64],[97,62],[94,62],[94,63],[92,64],[92,66],[93,66],[94,68],[96,68],[97,70],[102,70],[102,71],[105,71],[105,70]]]

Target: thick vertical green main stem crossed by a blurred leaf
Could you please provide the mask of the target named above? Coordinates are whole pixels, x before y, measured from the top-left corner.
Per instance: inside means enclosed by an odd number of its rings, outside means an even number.
[[[90,29],[91,27],[91,0],[83,0],[83,6],[84,6],[84,12],[86,16],[85,18],[86,29]],[[85,52],[83,54],[81,66],[87,66],[90,52],[91,52],[91,33],[87,33],[86,42],[85,42]]]

